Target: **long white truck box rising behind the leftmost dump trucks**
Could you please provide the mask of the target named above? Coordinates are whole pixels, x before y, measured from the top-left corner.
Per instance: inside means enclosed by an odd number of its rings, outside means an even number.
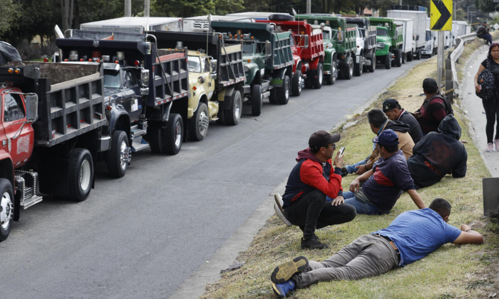
[[[83,23],[80,30],[140,34],[145,31],[182,31],[182,18],[125,16]]]

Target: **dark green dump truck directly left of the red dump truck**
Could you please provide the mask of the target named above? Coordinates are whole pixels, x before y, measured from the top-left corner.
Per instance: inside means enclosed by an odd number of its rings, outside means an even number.
[[[277,31],[268,23],[212,21],[228,43],[241,44],[251,114],[260,115],[262,99],[272,104],[287,104],[293,78],[291,33]],[[298,84],[303,84],[298,82]]]

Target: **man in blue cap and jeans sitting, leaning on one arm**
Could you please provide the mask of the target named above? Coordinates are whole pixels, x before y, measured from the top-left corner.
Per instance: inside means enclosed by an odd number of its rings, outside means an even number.
[[[425,208],[415,190],[404,153],[399,150],[397,133],[384,130],[373,143],[381,157],[372,169],[353,180],[350,191],[343,192],[345,203],[353,205],[358,214],[386,214],[405,191],[418,208]],[[362,187],[361,182],[365,182]]]

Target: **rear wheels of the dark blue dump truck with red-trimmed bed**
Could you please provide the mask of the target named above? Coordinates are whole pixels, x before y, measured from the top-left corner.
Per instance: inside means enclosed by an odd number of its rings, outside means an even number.
[[[184,123],[180,114],[170,113],[166,128],[161,124],[151,124],[147,131],[149,146],[154,153],[177,154],[182,148]]]

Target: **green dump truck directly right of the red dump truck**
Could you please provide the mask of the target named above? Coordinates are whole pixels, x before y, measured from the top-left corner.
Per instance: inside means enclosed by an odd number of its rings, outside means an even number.
[[[307,21],[313,24],[312,26],[322,27],[326,83],[334,84],[336,77],[351,79],[354,68],[362,69],[363,65],[359,66],[355,55],[357,50],[356,25],[347,24],[344,17],[326,13],[297,14],[295,19]]]

